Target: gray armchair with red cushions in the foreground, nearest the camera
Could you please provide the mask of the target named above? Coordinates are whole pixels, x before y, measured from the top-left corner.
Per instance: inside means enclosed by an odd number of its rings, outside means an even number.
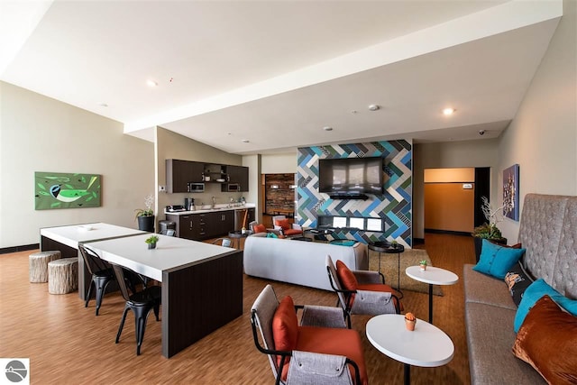
[[[303,311],[300,325],[297,309]],[[368,383],[361,337],[346,328],[338,307],[294,306],[290,297],[279,302],[267,285],[252,305],[251,325],[277,384]]]

